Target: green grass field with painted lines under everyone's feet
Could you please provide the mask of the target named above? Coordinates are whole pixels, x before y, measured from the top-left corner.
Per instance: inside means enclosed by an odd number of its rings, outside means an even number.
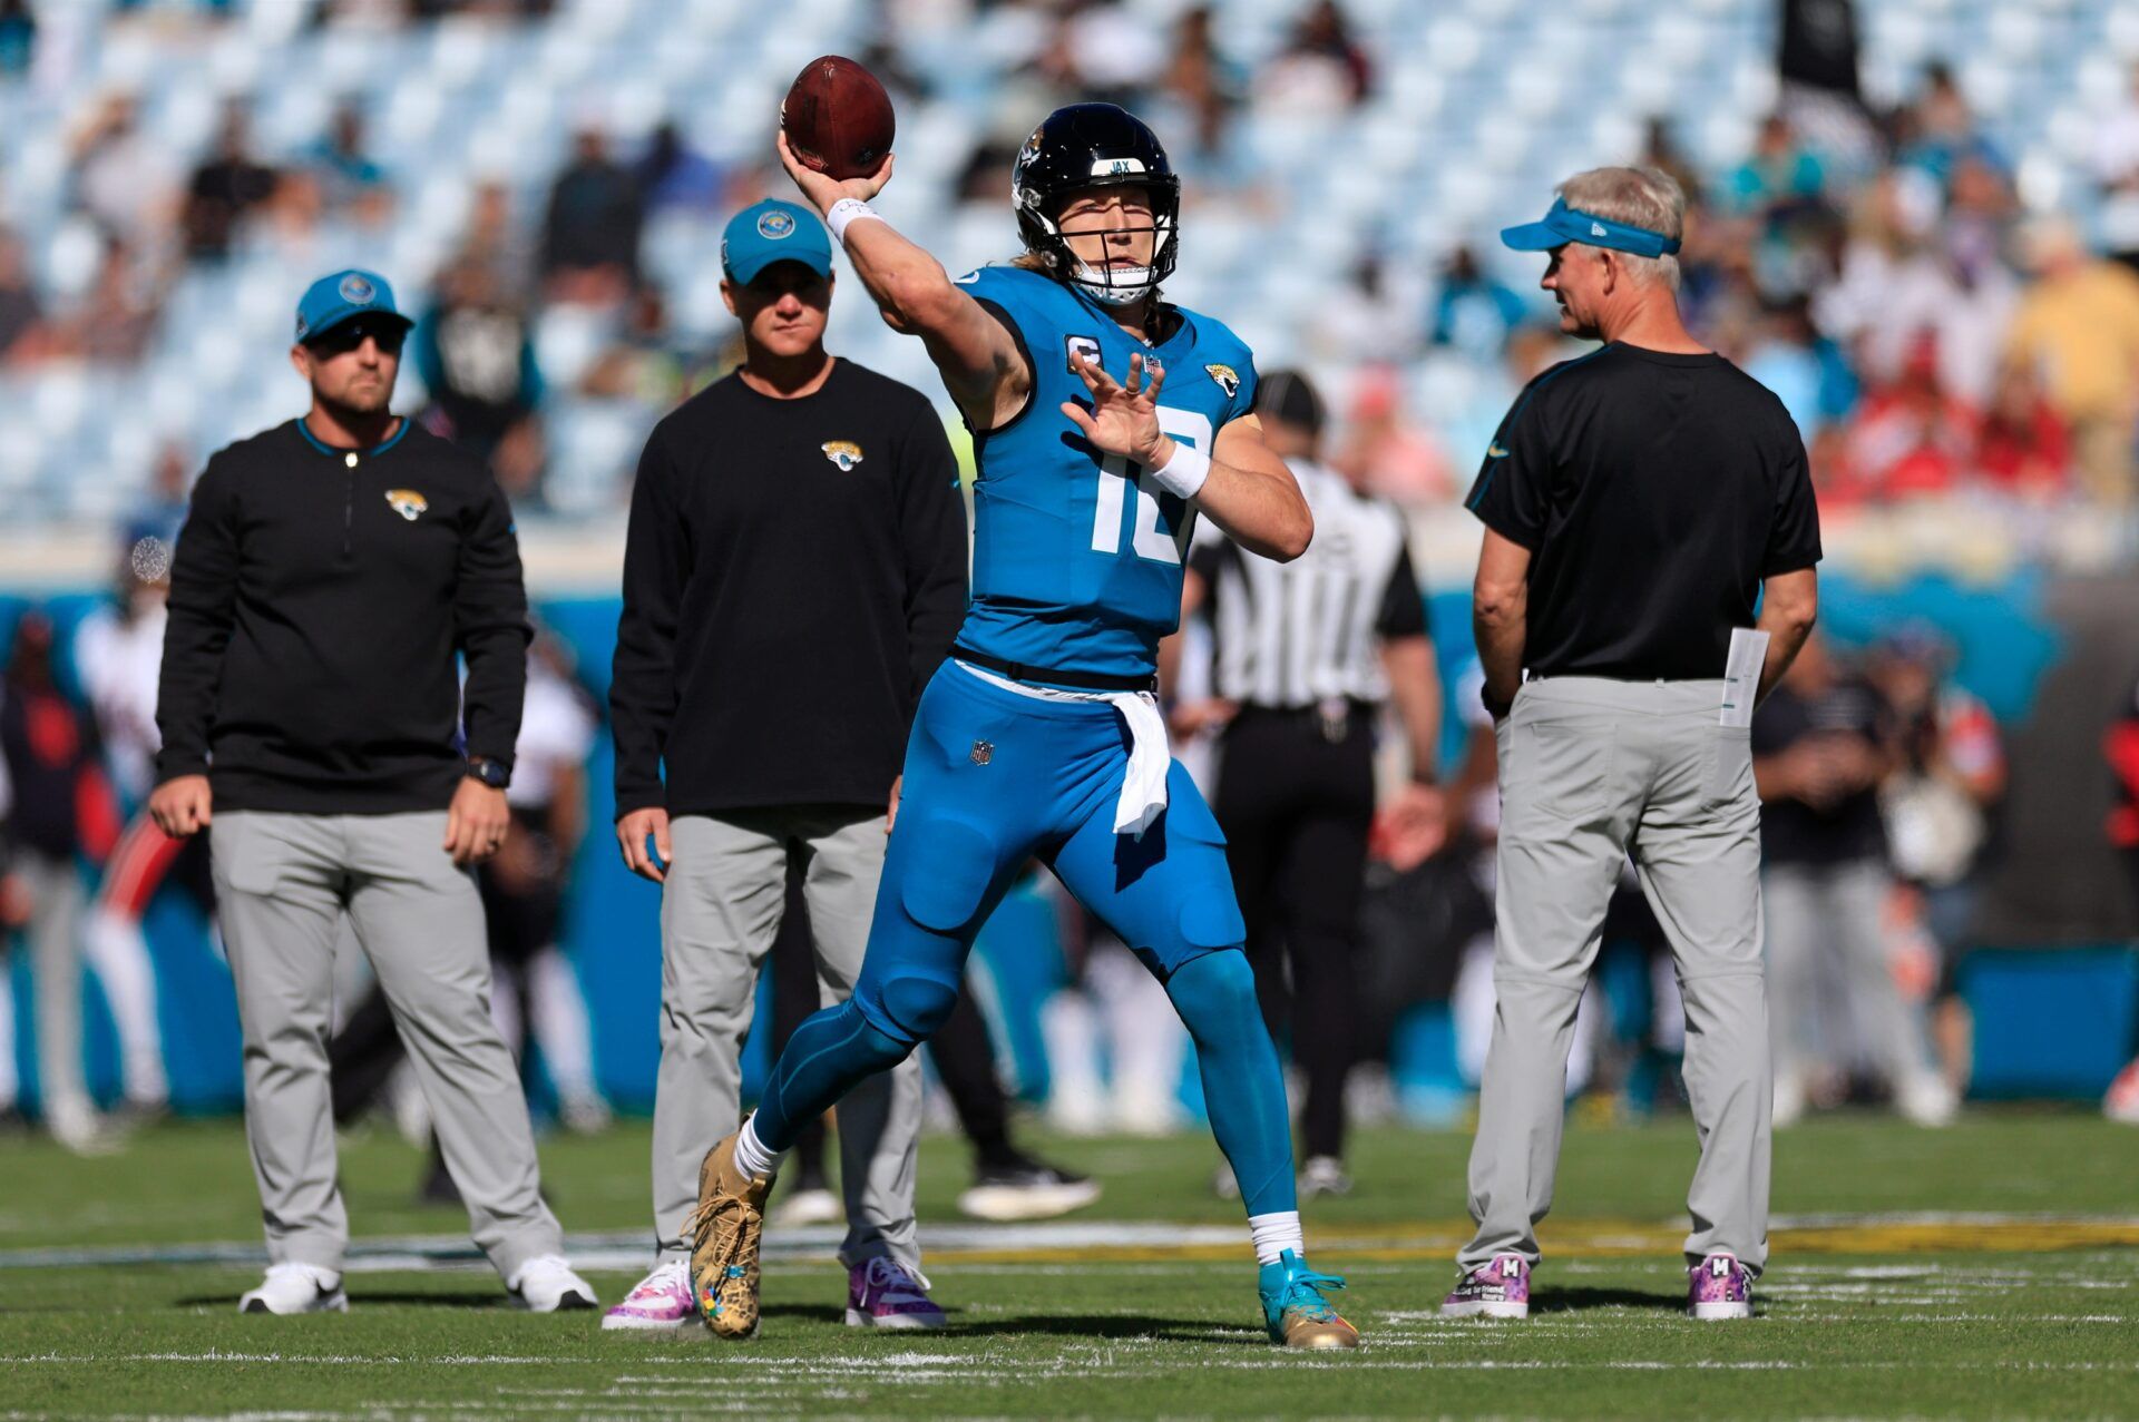
[[[464,1217],[411,1202],[421,1159],[387,1135],[342,1153],[351,1313],[302,1319],[233,1309],[261,1257],[233,1125],[96,1161],[0,1142],[0,1418],[2139,1416],[2139,1131],[2090,1116],[1786,1131],[1750,1324],[1679,1313],[1683,1118],[1570,1129],[1527,1324],[1435,1317],[1467,1135],[1371,1131],[1358,1191],[1307,1212],[1367,1334],[1345,1358],[1262,1341],[1206,1140],[1046,1144],[1106,1197],[1082,1230],[939,1234],[948,1330],[843,1328],[817,1232],[768,1240],[764,1332],[719,1345],[505,1307]],[[644,1127],[543,1146],[603,1298],[637,1272],[646,1153]],[[963,1148],[930,1140],[922,1180],[924,1230],[956,1230]]]

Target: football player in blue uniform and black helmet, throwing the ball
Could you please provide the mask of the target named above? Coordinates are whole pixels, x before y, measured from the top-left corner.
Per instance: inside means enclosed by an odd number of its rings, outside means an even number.
[[[975,432],[973,603],[922,695],[853,996],[796,1031],[757,1112],[706,1157],[699,1302],[755,1326],[759,1210],[783,1153],[943,1026],[975,932],[1037,855],[1166,984],[1196,1039],[1271,1339],[1356,1347],[1324,1298],[1341,1281],[1303,1257],[1286,1084],[1224,834],[1151,695],[1198,513],[1281,560],[1313,537],[1256,421],[1247,346],[1159,299],[1181,214],[1166,150],[1112,105],[1057,109],[1012,169],[1025,254],[958,280],[868,210],[890,158],[849,182],[802,167],[785,135],[781,158]]]

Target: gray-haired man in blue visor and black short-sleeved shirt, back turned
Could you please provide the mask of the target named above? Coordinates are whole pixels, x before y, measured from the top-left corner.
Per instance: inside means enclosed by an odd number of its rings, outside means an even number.
[[[1818,511],[1782,402],[1679,319],[1686,197],[1594,169],[1502,242],[1549,252],[1559,329],[1604,346],[1521,393],[1467,507],[1499,742],[1493,1046],[1446,1315],[1525,1317],[1574,1009],[1628,857],[1677,958],[1701,1138],[1688,1311],[1750,1317],[1767,1262],[1771,1067],[1752,708],[1816,607]],[[1754,616],[1758,599],[1758,618]]]

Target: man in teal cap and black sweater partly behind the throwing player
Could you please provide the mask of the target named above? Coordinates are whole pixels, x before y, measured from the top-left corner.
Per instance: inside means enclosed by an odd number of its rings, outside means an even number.
[[[965,509],[935,408],[824,349],[824,227],[766,201],[729,220],[721,252],[744,364],[646,440],[610,682],[616,838],[663,885],[663,973],[659,1255],[607,1328],[693,1317],[684,1219],[699,1157],[740,1120],[742,1039],[789,860],[824,1001],[841,1001],[913,708],[967,601]],[[849,1321],[941,1321],[913,1240],[918,1063],[856,1088],[838,1123]]]

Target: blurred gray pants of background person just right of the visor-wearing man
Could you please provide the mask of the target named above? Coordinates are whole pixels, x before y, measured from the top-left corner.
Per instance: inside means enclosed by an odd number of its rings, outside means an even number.
[[[1887,954],[1882,917],[1891,892],[1893,877],[1880,860],[1767,868],[1778,1076],[1801,1086],[1814,1063],[1848,1067],[1859,1058],[1884,1071],[1897,1091],[1932,1076],[1923,1031],[1902,1001]]]

